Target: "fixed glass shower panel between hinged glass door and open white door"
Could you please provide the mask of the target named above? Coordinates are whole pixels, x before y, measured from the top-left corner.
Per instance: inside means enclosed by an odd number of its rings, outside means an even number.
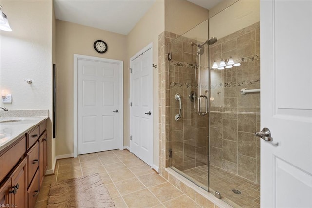
[[[241,93],[260,89],[259,1],[234,3],[209,27],[219,38],[210,46],[210,192],[260,207],[260,93]]]

